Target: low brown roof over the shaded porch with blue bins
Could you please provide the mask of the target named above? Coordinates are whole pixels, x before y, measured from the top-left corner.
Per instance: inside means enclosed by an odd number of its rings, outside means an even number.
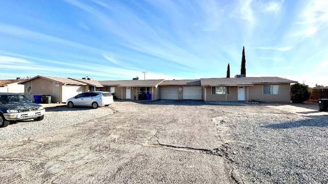
[[[157,80],[117,80],[117,81],[99,81],[104,86],[118,86],[118,87],[153,87],[164,81],[164,79]]]

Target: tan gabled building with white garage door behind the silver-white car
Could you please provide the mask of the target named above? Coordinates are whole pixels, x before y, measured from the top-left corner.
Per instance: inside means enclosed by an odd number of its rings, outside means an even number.
[[[52,103],[65,103],[67,99],[88,91],[87,83],[60,77],[35,76],[18,84],[25,85],[24,95],[32,101],[34,95],[50,95]]]

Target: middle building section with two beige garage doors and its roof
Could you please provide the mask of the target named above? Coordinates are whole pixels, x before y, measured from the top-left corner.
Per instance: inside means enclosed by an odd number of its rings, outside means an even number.
[[[159,84],[160,99],[163,100],[202,100],[200,79],[166,80]]]

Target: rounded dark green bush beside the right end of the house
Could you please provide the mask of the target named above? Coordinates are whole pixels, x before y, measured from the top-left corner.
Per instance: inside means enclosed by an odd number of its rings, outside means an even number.
[[[291,86],[291,100],[293,103],[303,103],[308,100],[311,90],[308,85],[296,83]]]

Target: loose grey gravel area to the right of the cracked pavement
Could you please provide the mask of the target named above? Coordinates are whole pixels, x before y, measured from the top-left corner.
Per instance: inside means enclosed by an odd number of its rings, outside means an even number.
[[[328,183],[328,113],[316,104],[255,107],[259,111],[212,107],[226,111],[216,122],[233,140],[229,145],[243,182]]]

